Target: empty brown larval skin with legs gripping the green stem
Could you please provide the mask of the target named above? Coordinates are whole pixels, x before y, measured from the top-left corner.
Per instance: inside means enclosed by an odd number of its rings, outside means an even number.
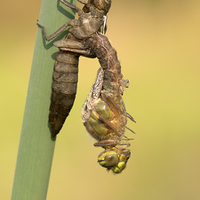
[[[64,5],[75,9],[79,18],[64,24],[52,35],[47,37],[44,26],[39,23],[37,24],[42,28],[46,41],[52,40],[68,26],[71,26],[64,40],[54,42],[54,46],[59,48],[59,52],[55,58],[49,113],[52,137],[55,137],[59,133],[73,106],[78,81],[79,56],[95,57],[82,44],[82,41],[96,32],[103,33],[105,31],[105,15],[111,5],[111,0],[78,1],[84,4],[82,10],[66,0],[60,0]],[[62,47],[65,47],[64,51]],[[66,50],[66,47],[69,50]],[[70,49],[73,49],[73,51]]]

